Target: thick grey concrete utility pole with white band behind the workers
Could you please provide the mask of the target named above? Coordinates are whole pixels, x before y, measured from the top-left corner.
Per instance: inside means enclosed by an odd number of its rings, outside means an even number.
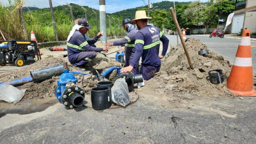
[[[100,38],[101,43],[107,42],[107,26],[106,26],[106,2],[105,0],[99,0],[100,2],[100,31],[104,31],[104,35]]]

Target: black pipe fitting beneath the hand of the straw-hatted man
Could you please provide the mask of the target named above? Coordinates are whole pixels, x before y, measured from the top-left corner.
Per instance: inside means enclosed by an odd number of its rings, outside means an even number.
[[[143,82],[142,74],[134,75],[131,72],[121,73],[118,78],[125,78],[129,92],[134,91],[134,84]]]

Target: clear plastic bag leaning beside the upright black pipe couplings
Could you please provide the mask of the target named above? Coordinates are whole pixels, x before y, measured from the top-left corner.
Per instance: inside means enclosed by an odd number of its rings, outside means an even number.
[[[114,103],[125,107],[130,103],[130,99],[131,97],[125,78],[117,79],[114,86],[111,88],[111,100]]]

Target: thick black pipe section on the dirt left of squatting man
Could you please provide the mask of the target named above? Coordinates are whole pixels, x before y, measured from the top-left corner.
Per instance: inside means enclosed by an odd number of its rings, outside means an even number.
[[[52,67],[42,68],[39,70],[30,71],[34,82],[51,78],[52,76],[61,75],[64,71],[63,65],[56,65]]]

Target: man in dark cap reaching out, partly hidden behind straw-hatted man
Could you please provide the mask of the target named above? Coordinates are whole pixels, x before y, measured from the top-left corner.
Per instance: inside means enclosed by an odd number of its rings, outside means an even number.
[[[120,26],[122,26],[127,35],[117,41],[114,42],[109,42],[106,43],[106,46],[119,46],[119,45],[124,45],[125,46],[125,67],[129,66],[130,63],[132,62],[133,56],[134,56],[134,52],[135,52],[135,35],[137,33],[136,28],[130,24],[129,22],[131,21],[130,18],[125,18],[122,21],[122,24]],[[133,74],[139,74],[139,62],[137,62],[132,69],[132,73]]]

